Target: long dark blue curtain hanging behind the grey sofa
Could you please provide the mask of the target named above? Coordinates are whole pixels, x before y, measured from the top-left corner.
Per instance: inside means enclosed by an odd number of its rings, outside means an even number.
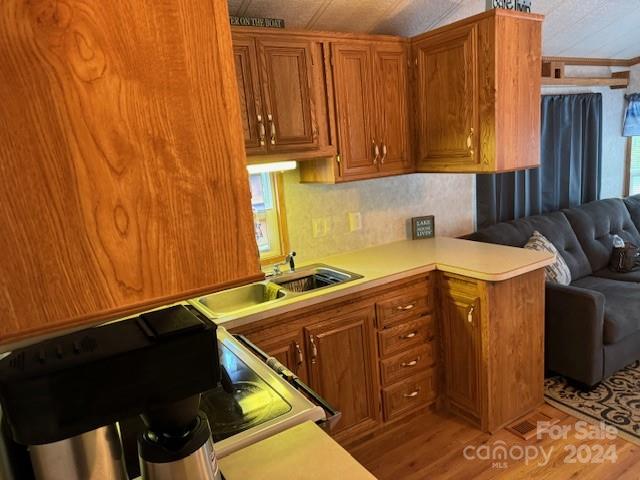
[[[602,95],[543,95],[540,167],[476,176],[478,228],[600,198]]]

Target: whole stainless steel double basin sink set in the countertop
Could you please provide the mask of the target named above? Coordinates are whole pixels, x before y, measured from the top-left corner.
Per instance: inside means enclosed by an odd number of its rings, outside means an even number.
[[[198,298],[197,302],[205,307],[213,318],[220,318],[358,278],[362,278],[362,275],[329,265],[308,265],[295,272],[285,272],[262,282],[205,295]]]

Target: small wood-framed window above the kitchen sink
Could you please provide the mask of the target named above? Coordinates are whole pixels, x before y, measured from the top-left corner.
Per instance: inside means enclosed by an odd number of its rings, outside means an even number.
[[[249,182],[260,262],[263,265],[278,262],[289,250],[282,174],[254,173],[249,175]]]

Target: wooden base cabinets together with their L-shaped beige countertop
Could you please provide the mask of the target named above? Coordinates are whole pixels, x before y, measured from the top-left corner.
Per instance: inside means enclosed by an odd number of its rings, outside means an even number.
[[[361,276],[340,285],[222,316],[205,306],[221,294],[191,302],[336,406],[333,436],[345,445],[427,407],[495,432],[542,403],[543,268],[553,260],[461,239],[407,240],[308,262]]]

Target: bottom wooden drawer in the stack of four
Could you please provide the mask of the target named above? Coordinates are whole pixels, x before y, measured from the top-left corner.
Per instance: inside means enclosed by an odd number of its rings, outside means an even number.
[[[382,389],[385,421],[393,420],[411,410],[426,406],[438,392],[436,369],[416,375]]]

